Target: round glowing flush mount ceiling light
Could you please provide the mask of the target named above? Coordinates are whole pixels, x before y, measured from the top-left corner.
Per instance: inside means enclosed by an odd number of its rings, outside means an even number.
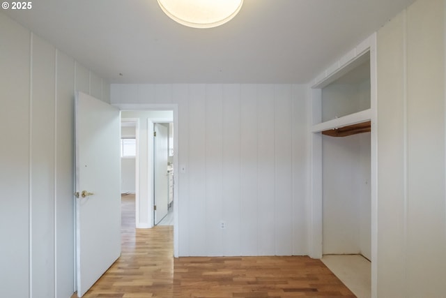
[[[229,22],[243,0],[157,0],[172,20],[193,28],[213,28]]]

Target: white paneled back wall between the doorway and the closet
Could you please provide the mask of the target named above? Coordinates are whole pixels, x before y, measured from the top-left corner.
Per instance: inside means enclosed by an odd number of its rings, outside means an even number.
[[[179,255],[307,254],[306,88],[112,84],[112,103],[178,104]]]

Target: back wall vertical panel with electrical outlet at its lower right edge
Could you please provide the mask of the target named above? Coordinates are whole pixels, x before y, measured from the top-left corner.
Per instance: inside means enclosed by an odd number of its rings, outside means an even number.
[[[222,96],[221,84],[206,85],[206,252],[222,255]]]

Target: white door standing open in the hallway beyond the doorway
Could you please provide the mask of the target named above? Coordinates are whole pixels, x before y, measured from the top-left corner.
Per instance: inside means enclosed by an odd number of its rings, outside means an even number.
[[[169,156],[169,128],[162,124],[155,124],[155,149],[153,162],[155,163],[154,200],[156,209],[154,211],[155,225],[160,223],[167,215],[169,204],[169,175],[167,173],[167,162]]]

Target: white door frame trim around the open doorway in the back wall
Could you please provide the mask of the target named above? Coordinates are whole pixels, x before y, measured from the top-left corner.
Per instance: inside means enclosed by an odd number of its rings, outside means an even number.
[[[115,107],[118,107],[121,111],[173,111],[174,112],[174,120],[172,121],[174,124],[174,200],[175,200],[175,208],[174,208],[174,257],[178,258],[179,255],[179,234],[178,234],[178,226],[179,226],[179,209],[180,204],[178,204],[180,197],[178,192],[178,184],[180,182],[179,178],[179,167],[178,167],[178,152],[180,151],[180,144],[178,143],[178,135],[180,134],[180,130],[178,129],[178,104],[157,104],[157,103],[146,103],[146,104],[129,104],[129,103],[112,103]],[[165,122],[165,119],[149,119],[152,123],[157,121]],[[153,138],[153,135],[152,135]],[[153,170],[153,169],[152,169]],[[151,212],[153,214],[153,204],[151,204]]]

